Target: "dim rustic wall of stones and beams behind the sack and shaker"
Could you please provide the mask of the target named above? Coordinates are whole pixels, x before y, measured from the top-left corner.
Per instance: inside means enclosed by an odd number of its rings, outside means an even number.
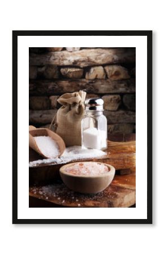
[[[102,97],[108,134],[135,133],[135,48],[29,48],[29,125],[49,127],[66,92]]]

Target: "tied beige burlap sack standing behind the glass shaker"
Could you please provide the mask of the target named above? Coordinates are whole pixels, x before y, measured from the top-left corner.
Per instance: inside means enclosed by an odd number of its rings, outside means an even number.
[[[85,114],[85,96],[86,93],[80,90],[65,93],[58,98],[62,106],[57,112],[56,133],[63,138],[67,147],[81,145],[81,119]]]

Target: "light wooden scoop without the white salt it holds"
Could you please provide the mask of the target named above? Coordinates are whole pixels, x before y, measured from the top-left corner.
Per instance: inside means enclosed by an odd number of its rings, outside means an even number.
[[[60,154],[57,155],[61,156],[66,148],[66,145],[63,141],[63,139],[53,131],[47,129],[47,128],[36,128],[34,126],[29,126],[29,147],[31,147],[34,151],[36,151],[38,154],[42,155],[44,158],[48,158],[42,152],[40,151],[40,148],[38,148],[36,141],[33,137],[37,136],[49,136],[51,137],[59,146],[59,152]]]

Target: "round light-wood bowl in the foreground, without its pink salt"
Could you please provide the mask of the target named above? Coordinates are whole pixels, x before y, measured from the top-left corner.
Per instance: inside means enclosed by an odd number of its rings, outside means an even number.
[[[86,163],[86,162],[78,162],[78,163]],[[100,162],[94,162],[100,163]],[[80,193],[98,193],[103,191],[107,186],[110,185],[111,181],[113,181],[115,175],[115,168],[110,166],[110,164],[105,164],[109,168],[109,172],[100,175],[74,175],[69,174],[65,171],[65,169],[69,166],[73,166],[75,163],[66,164],[62,166],[59,170],[63,183],[70,189],[75,192]],[[102,164],[102,163],[100,163]]]

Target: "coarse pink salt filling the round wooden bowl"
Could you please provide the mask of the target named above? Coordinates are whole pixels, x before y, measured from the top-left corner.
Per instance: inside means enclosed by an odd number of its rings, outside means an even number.
[[[94,162],[87,163],[75,163],[65,169],[68,174],[75,175],[101,175],[109,171],[109,168],[105,164],[99,164]]]

